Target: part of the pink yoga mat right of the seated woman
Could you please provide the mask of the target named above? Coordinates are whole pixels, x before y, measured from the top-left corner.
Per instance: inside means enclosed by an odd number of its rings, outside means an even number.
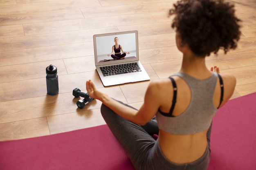
[[[256,170],[256,93],[229,100],[218,110],[208,170]]]

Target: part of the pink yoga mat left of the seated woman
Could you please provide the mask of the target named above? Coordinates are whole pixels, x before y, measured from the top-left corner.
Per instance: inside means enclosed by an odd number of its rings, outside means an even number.
[[[0,142],[0,170],[134,170],[108,126]]]

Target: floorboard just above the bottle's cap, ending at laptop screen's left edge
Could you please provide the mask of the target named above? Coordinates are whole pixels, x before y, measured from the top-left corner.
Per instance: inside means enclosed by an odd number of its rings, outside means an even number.
[[[0,66],[59,60],[93,55],[93,43],[81,42],[30,49],[0,51]]]

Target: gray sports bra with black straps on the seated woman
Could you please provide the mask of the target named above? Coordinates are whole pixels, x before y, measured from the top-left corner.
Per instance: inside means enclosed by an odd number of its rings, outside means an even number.
[[[191,102],[181,115],[175,117],[172,115],[178,91],[176,90],[175,81],[169,77],[172,80],[174,89],[173,104],[169,113],[163,113],[158,110],[156,117],[159,128],[168,133],[178,135],[188,135],[206,130],[210,127],[212,118],[218,109],[213,104],[213,95],[218,77],[222,91],[220,104],[223,99],[222,78],[216,72],[213,72],[211,77],[203,80],[196,79],[182,72],[173,75],[181,77],[189,85]]]

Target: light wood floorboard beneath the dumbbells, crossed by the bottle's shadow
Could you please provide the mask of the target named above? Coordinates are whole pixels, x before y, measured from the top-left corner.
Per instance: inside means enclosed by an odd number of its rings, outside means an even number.
[[[76,87],[79,86],[74,86],[74,88]],[[83,87],[79,87],[82,92],[86,92],[86,90],[83,90],[82,88]],[[41,97],[30,97],[27,99],[0,102],[0,124],[53,115],[63,115],[67,113],[81,114],[80,112],[85,110],[99,109],[101,107],[100,101],[92,100],[86,104],[83,109],[78,108],[76,102],[83,98],[75,98],[72,95],[73,89],[70,89],[71,91],[68,93],[59,93],[54,96],[45,95]],[[99,89],[112,96],[117,96],[117,100],[127,103],[119,86]]]

